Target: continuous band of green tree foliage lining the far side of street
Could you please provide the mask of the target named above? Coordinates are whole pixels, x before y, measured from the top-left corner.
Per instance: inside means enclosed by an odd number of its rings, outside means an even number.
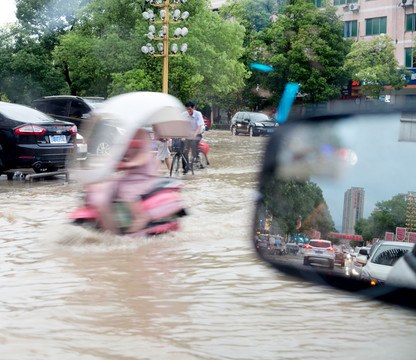
[[[142,13],[151,8],[157,15],[160,8],[146,0],[16,0],[16,6],[16,24],[0,29],[0,94],[5,98],[30,103],[60,93],[162,90],[162,59],[140,51],[150,42],[145,36],[150,24]],[[343,23],[332,6],[317,9],[309,0],[229,0],[217,14],[209,0],[192,0],[179,8],[190,16],[171,24],[171,32],[188,28],[188,35],[177,40],[179,46],[186,42],[188,51],[169,58],[169,93],[182,101],[193,99],[200,108],[255,108],[260,101],[276,105],[289,81],[300,83],[309,101],[325,101],[337,98],[348,75],[358,73],[352,68],[357,53],[343,66],[350,42],[342,38]],[[367,59],[363,71],[376,74],[378,85],[400,88],[404,82],[397,77],[392,47],[386,43],[381,54],[370,51],[367,58],[363,48],[359,58]],[[274,70],[256,70],[254,62]],[[396,77],[382,77],[386,74]],[[364,82],[373,85],[373,80]]]

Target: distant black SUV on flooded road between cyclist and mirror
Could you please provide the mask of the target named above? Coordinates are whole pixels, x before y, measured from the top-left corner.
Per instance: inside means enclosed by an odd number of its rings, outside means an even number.
[[[230,130],[233,135],[270,135],[278,124],[260,112],[239,111],[231,119]]]

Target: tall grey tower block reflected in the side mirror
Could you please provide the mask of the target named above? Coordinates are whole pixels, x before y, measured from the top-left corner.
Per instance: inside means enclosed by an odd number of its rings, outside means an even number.
[[[344,211],[342,214],[342,233],[355,235],[354,226],[364,212],[364,188],[352,187],[344,193]]]

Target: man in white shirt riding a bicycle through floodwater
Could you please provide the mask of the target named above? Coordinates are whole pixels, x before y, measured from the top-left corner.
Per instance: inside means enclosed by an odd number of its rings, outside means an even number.
[[[204,132],[204,118],[200,111],[195,110],[195,104],[192,101],[185,103],[186,111],[183,113],[185,118],[190,120],[192,135],[185,140],[184,156],[186,163],[189,164],[189,148],[192,148],[192,156],[198,155],[198,144],[202,139],[202,133]],[[183,173],[188,172],[186,164],[183,165]]]

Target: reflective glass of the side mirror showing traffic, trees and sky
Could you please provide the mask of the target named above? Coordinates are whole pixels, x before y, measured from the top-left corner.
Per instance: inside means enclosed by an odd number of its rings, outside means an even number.
[[[413,256],[416,241],[414,115],[279,127],[260,181],[254,236],[260,255],[371,286],[410,271],[405,285],[416,287],[411,267],[396,266]]]

